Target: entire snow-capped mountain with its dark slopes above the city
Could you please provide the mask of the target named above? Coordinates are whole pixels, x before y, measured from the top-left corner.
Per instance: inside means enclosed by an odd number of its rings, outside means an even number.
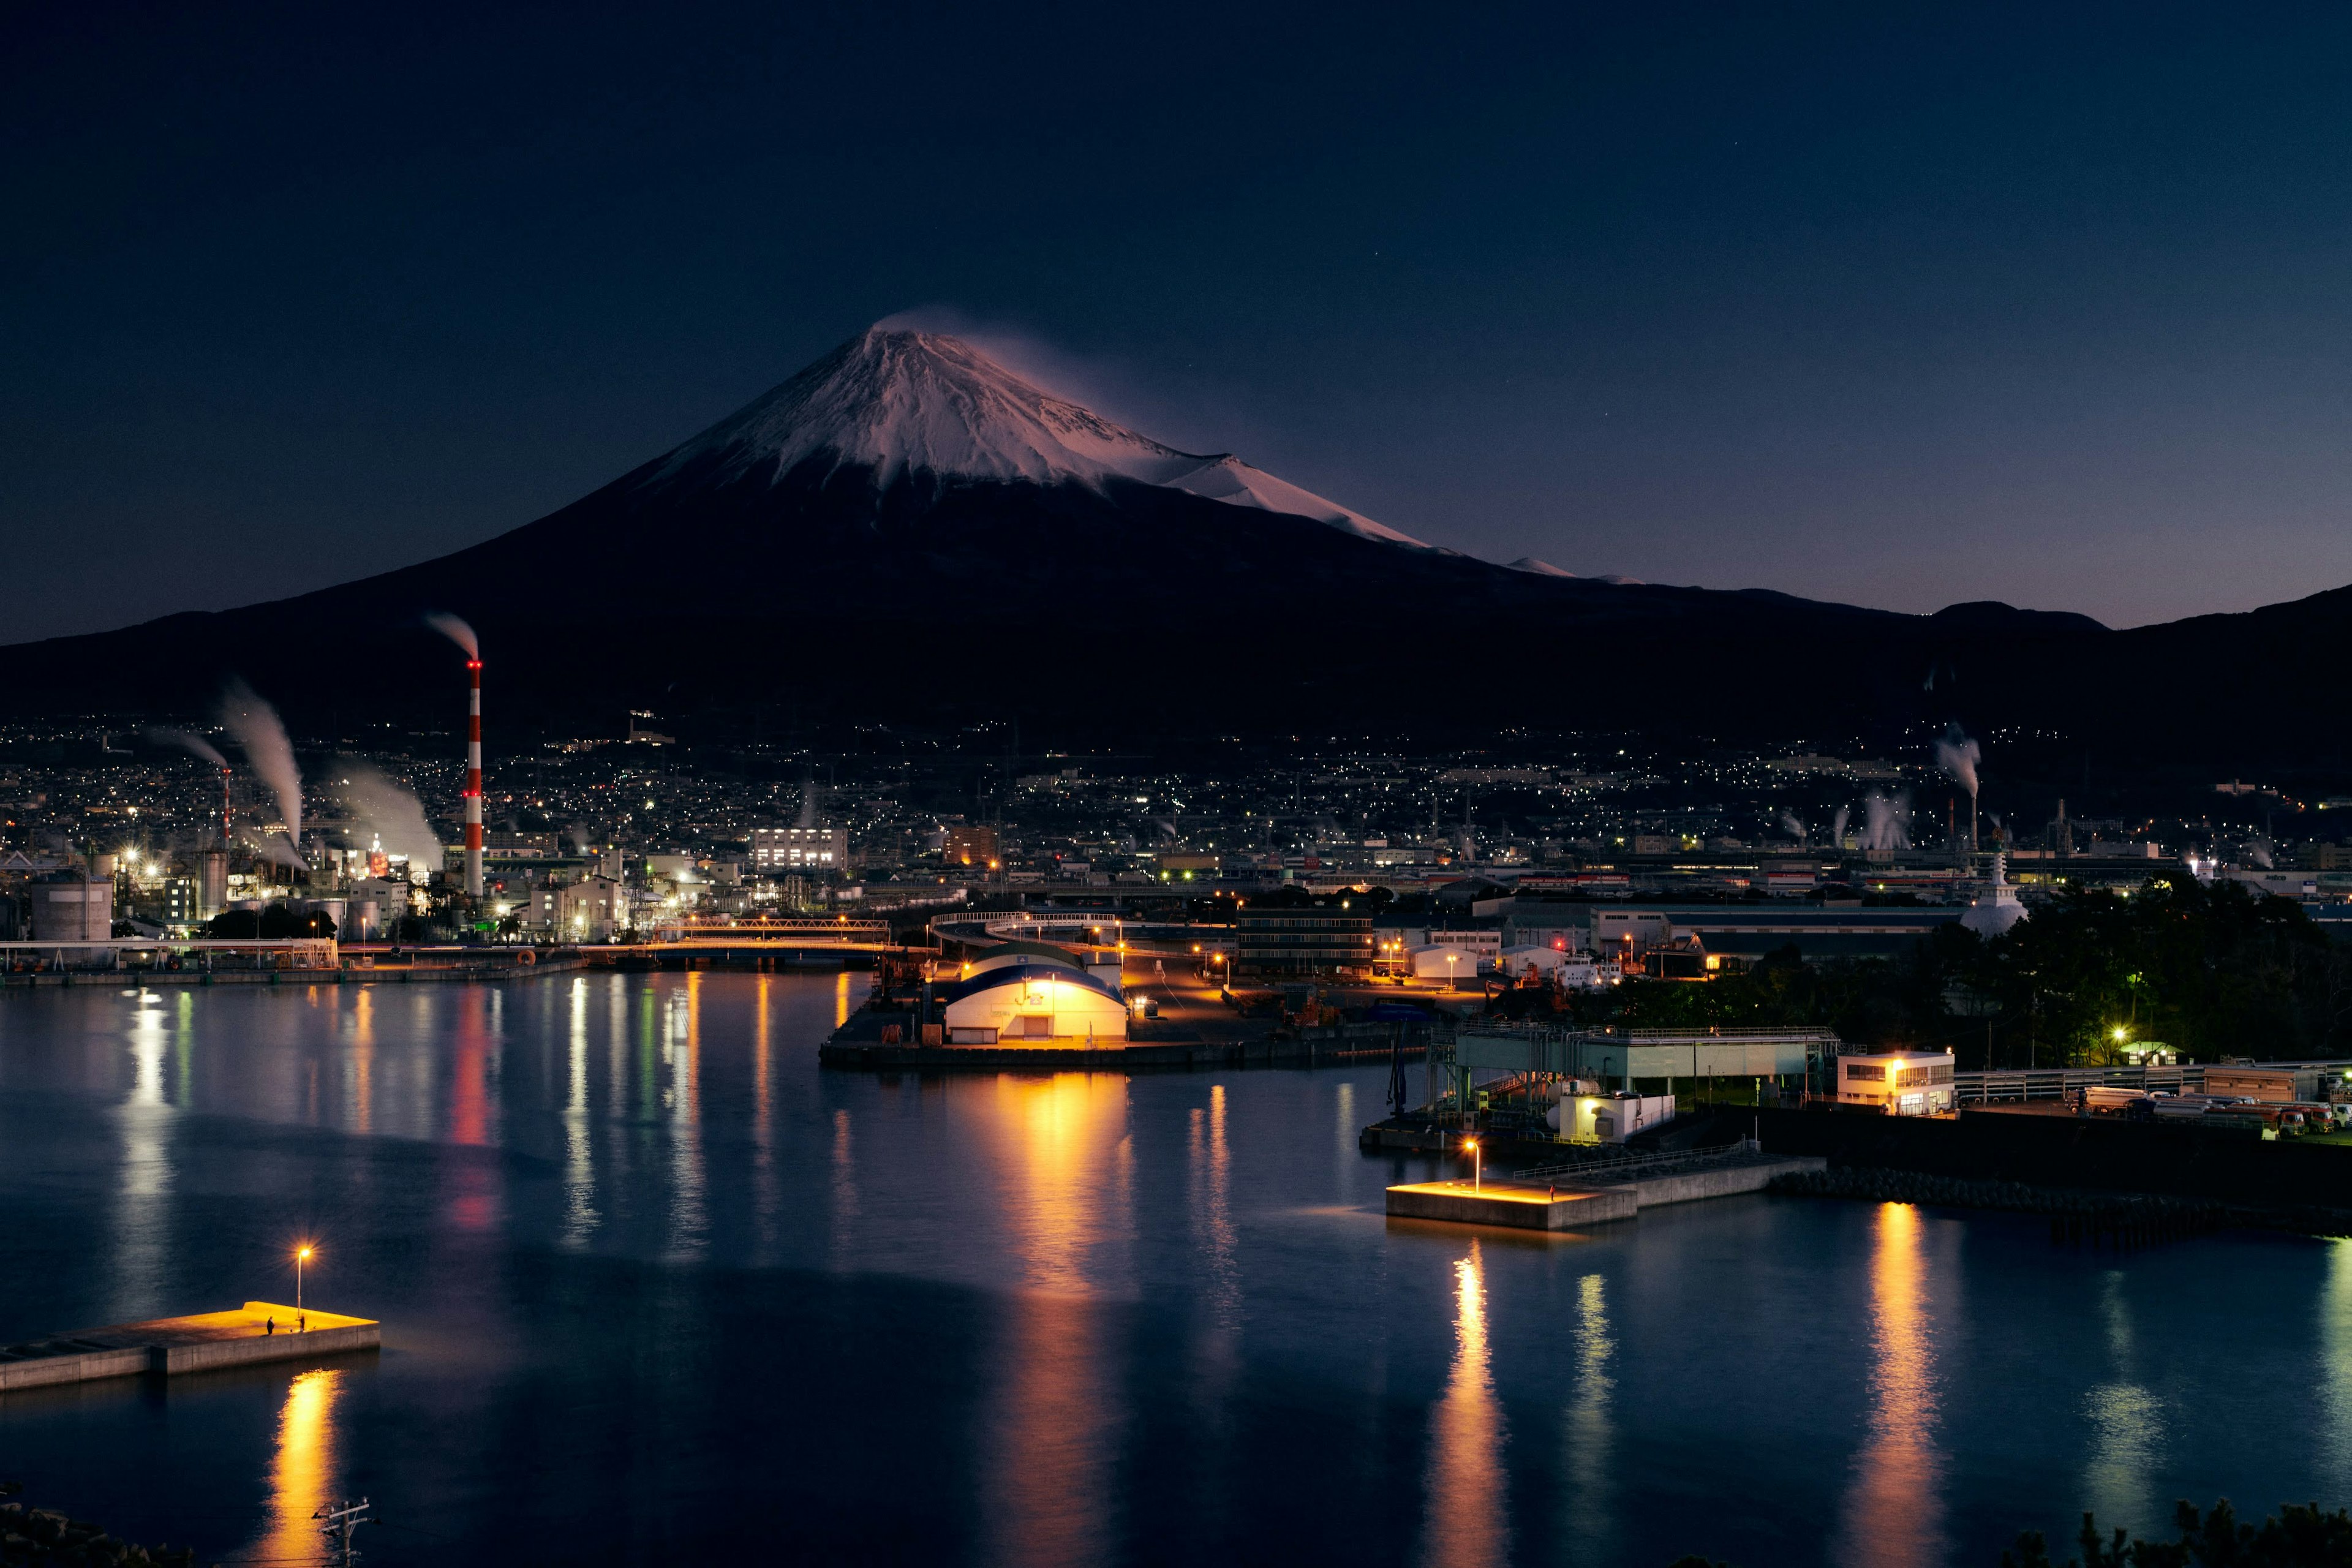
[[[614,733],[642,708],[689,738],[1014,719],[1063,745],[1498,729],[1893,743],[1947,717],[2173,733],[2194,705],[2225,745],[2288,733],[2232,672],[2324,658],[2352,590],[2110,632],[2006,604],[1907,616],[1491,564],[1157,442],[953,336],[875,327],[468,550],[0,649],[0,712],[198,712],[242,675],[313,729],[437,729],[454,677],[430,611],[480,630],[492,731],[510,738]]]

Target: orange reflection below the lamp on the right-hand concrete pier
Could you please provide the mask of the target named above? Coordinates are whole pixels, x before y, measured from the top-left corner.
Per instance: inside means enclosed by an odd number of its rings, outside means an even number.
[[[1503,1441],[1503,1406],[1486,1352],[1486,1260],[1472,1239],[1470,1255],[1454,1265],[1454,1371],[1430,1415],[1421,1521],[1421,1561],[1430,1568],[1510,1561]]]

